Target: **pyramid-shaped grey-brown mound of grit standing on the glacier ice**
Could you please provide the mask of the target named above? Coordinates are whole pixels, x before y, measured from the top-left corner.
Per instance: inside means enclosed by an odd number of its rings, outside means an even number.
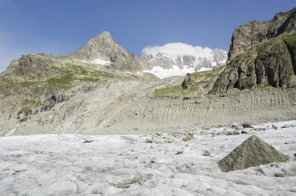
[[[253,135],[218,162],[223,172],[246,169],[272,162],[287,162],[288,157],[278,152],[258,136]]]

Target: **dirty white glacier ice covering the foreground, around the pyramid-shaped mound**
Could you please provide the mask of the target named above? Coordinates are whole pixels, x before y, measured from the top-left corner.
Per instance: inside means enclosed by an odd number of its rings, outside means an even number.
[[[187,142],[181,140],[185,133],[177,134],[176,143],[168,143],[171,136],[166,134],[153,135],[154,139],[96,135],[91,143],[83,143],[83,135],[2,137],[0,195],[296,196],[296,127],[276,130],[271,123],[255,127],[266,130],[240,135],[212,134],[223,127],[196,130]],[[252,134],[290,156],[290,161],[221,172],[217,162]],[[146,143],[147,138],[162,138],[164,143]],[[184,153],[176,154],[177,150]],[[205,150],[212,154],[203,156]],[[151,157],[159,157],[159,162],[149,163]],[[13,174],[12,167],[19,164],[28,169]]]

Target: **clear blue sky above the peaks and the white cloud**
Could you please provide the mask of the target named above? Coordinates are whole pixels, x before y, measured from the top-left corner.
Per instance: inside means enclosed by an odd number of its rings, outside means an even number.
[[[178,42],[228,49],[236,27],[295,6],[296,0],[0,0],[0,71],[22,54],[74,52],[103,31],[137,57]]]

